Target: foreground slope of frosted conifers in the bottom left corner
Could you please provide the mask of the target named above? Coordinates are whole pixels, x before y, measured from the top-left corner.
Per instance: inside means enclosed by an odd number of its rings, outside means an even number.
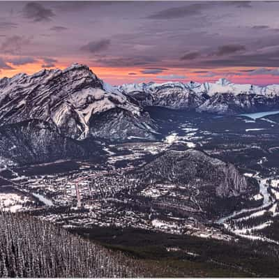
[[[0,213],[0,278],[137,277],[133,259],[61,227]]]

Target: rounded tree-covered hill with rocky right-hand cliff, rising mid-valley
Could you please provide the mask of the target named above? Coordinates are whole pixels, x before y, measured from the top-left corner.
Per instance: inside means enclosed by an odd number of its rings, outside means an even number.
[[[250,190],[245,176],[234,165],[194,149],[166,151],[142,171],[153,182],[194,186],[216,197],[237,197]]]

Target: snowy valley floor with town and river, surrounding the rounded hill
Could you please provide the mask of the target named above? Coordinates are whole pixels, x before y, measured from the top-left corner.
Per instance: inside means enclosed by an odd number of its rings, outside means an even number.
[[[153,119],[157,117],[158,140],[105,144],[105,163],[62,160],[2,169],[1,177],[10,183],[1,186],[1,191],[10,188],[28,197],[23,205],[14,200],[6,209],[22,206],[21,211],[32,211],[44,220],[70,228],[135,227],[206,239],[236,241],[244,237],[278,243],[262,233],[279,215],[279,169],[275,160],[278,123],[262,120],[275,119],[276,114],[250,122],[247,115],[216,117],[163,108],[150,108],[149,113]],[[252,127],[264,127],[264,137],[262,130],[250,135],[243,132]],[[161,154],[193,149],[239,167],[252,180],[250,194],[217,197],[211,200],[209,209],[202,201],[210,197],[197,188],[197,179],[191,186],[185,179],[152,182],[137,174]],[[234,156],[236,153],[238,156]]]

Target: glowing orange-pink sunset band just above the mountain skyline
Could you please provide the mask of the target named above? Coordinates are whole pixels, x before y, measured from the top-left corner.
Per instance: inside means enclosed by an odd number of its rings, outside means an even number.
[[[84,63],[84,62],[82,62]],[[42,62],[29,63],[22,66],[13,66],[9,64],[13,69],[2,69],[0,77],[13,77],[17,73],[27,73],[31,75],[33,73],[42,70]],[[70,66],[72,63],[69,61],[63,61],[56,63],[54,68],[64,69]],[[86,62],[85,62],[86,64]],[[240,70],[249,70],[250,68],[218,68],[218,69],[185,69],[185,68],[168,68],[163,70],[162,73],[156,74],[144,74],[141,68],[109,68],[103,66],[90,66],[93,73],[95,73],[100,79],[113,85],[119,85],[123,83],[140,83],[140,82],[166,82],[166,81],[180,81],[190,82],[216,82],[220,77],[225,77],[227,80],[235,83],[249,83],[249,84],[278,84],[278,76],[273,75],[248,75],[248,73],[240,72]],[[156,67],[154,67],[156,68]],[[160,68],[160,67],[158,67]],[[195,72],[208,72],[208,73],[195,73]],[[135,75],[129,75],[134,73]],[[213,75],[210,75],[213,73]],[[232,73],[228,75],[227,73]],[[241,73],[241,75],[239,75]],[[164,78],[165,77],[165,78]],[[176,78],[177,77],[177,78]]]

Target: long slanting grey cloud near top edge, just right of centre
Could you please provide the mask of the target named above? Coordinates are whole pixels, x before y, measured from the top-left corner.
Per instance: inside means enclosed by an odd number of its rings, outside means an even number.
[[[170,20],[179,17],[188,17],[193,15],[200,15],[201,9],[204,6],[199,3],[191,4],[188,6],[180,6],[176,8],[167,8],[165,10],[160,10],[158,13],[153,13],[147,18],[151,20]]]

